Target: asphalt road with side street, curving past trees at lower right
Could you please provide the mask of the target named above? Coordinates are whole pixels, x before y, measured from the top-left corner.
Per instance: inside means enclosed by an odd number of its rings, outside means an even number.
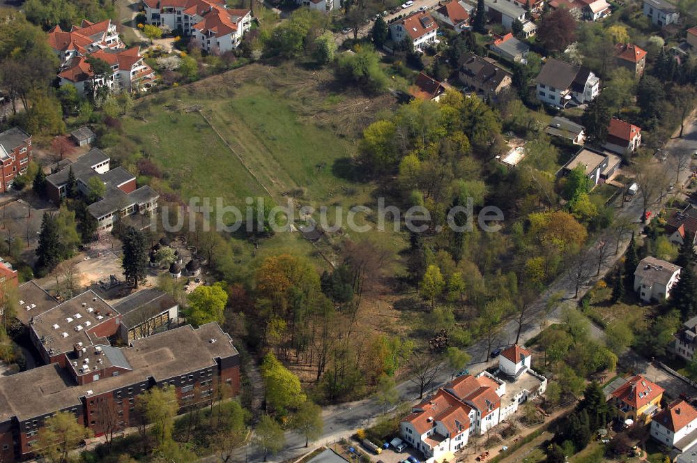
[[[419,3],[417,1],[415,2],[414,7],[418,9],[418,7],[421,6],[423,3],[425,2]],[[664,148],[664,151],[669,155],[671,153],[676,153],[677,151],[685,150],[690,152],[697,150],[697,121],[695,121],[695,119],[691,119],[689,123],[686,124],[685,134],[682,139],[671,139],[671,141],[668,142],[668,144],[666,144]],[[690,174],[691,169],[687,169],[686,172],[683,172],[680,177],[680,183],[682,184],[686,182]],[[675,193],[671,192],[671,195],[672,194]],[[666,201],[667,199],[668,196],[664,197],[664,201]],[[660,208],[661,204],[658,203],[652,205],[649,208],[649,210],[658,211]],[[628,204],[625,203],[624,207],[618,207],[618,215],[625,216],[636,222],[641,221],[642,213],[643,204],[641,204],[641,199],[638,196],[635,196]],[[603,278],[608,269],[614,266],[617,259],[621,257],[624,250],[626,249],[627,243],[628,239],[625,239],[620,244],[620,252],[618,253],[618,255],[611,257],[610,261],[608,261],[606,265],[602,268],[600,275],[595,277],[594,280]],[[590,286],[586,286],[583,289],[581,289],[579,297],[583,296],[583,294],[585,294],[585,292],[588,291],[589,287]],[[557,280],[555,280],[549,286],[549,288],[546,289],[546,291],[544,291],[537,303],[533,305],[533,308],[530,310],[530,318],[528,319],[528,321],[526,321],[526,323],[523,324],[523,329],[521,331],[521,340],[519,342],[521,344],[524,344],[526,340],[529,340],[531,337],[539,333],[540,321],[544,317],[544,307],[546,303],[550,300],[550,298],[552,298],[554,295],[561,294],[563,297],[563,301],[562,303],[557,305],[556,310],[549,314],[549,321],[556,321],[560,319],[560,317],[562,316],[563,308],[565,306],[575,307],[576,301],[574,300],[574,292],[574,283],[571,280],[569,280],[568,275],[562,273],[562,275],[560,275],[560,277]],[[498,346],[512,344],[512,342],[514,342],[516,339],[517,331],[517,322],[514,320],[509,321],[507,324],[505,324],[503,329],[501,329],[500,334],[498,335],[498,338],[494,345]],[[595,335],[598,337],[604,336],[602,330],[597,328],[597,326],[594,326],[593,331],[595,332]],[[491,365],[491,362],[489,361],[489,352],[487,347],[487,342],[482,340],[467,349],[468,353],[473,358],[473,364],[469,367],[471,372],[479,372],[481,370],[484,370],[485,367]],[[653,367],[652,365],[650,365],[647,359],[638,356],[638,354],[636,354],[633,351],[628,351],[627,354],[625,354],[625,356],[623,356],[621,360],[629,362],[629,365],[634,365],[636,372],[645,373],[650,380],[656,381],[657,384],[666,388],[666,390],[668,390],[668,393],[670,393],[673,397],[677,397],[677,394],[683,391],[689,392],[689,388],[687,387],[687,385],[683,384],[682,381],[677,380],[674,377],[671,377],[671,375],[666,374],[662,370],[658,370],[657,368]],[[438,374],[436,380],[431,385],[429,390],[438,388],[447,381],[450,381],[450,372],[443,369]],[[418,386],[416,386],[412,381],[405,381],[404,383],[399,384],[397,386],[397,390],[399,391],[399,396],[402,400],[415,401],[418,399]],[[341,404],[323,408],[322,413],[324,418],[324,433],[321,439],[319,439],[319,441],[316,441],[313,444],[314,447],[316,448],[316,446],[319,446],[323,443],[334,443],[335,441],[338,441],[341,437],[348,437],[350,434],[353,434],[353,432],[355,432],[356,429],[360,427],[366,427],[367,425],[372,423],[374,419],[381,416],[382,411],[383,410],[381,404],[378,404],[378,402],[376,402],[376,400],[372,398],[360,400],[357,402],[351,402],[348,404]],[[286,447],[284,448],[284,450],[282,450],[277,455],[269,455],[268,461],[282,462],[291,458],[298,458],[301,455],[307,453],[307,450],[308,449],[305,448],[304,438],[298,436],[298,434],[288,432],[286,433]],[[232,455],[231,460],[236,463],[261,462],[263,461],[263,456],[261,455],[261,453],[257,452],[254,448],[252,448],[252,446],[245,446],[236,449],[236,451]],[[211,456],[205,458],[203,461],[220,462],[221,460],[220,457]]]

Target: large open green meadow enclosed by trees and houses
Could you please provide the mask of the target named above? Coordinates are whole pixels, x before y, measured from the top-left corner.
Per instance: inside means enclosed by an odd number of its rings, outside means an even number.
[[[395,105],[389,95],[370,98],[339,87],[327,70],[254,64],[162,91],[145,102],[122,119],[124,132],[164,172],[154,183],[185,201],[208,197],[215,206],[222,198],[226,206],[244,207],[247,197],[271,197],[282,206],[292,202],[296,210],[326,206],[329,225],[339,206],[344,218],[353,206],[374,208],[375,185],[353,180],[346,166],[358,154],[362,129]],[[356,222],[374,220],[373,213]],[[342,232],[364,238],[345,226]],[[370,235],[395,252],[406,245],[393,232]],[[333,259],[341,239],[330,235],[319,250]],[[297,232],[277,233],[259,249],[231,243],[238,263],[246,266],[280,252],[309,255],[326,266]]]

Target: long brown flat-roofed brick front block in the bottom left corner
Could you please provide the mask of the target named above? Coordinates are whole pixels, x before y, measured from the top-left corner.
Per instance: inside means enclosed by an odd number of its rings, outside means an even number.
[[[138,397],[150,388],[173,387],[181,407],[210,400],[223,384],[231,393],[239,388],[238,351],[215,323],[165,331],[130,347],[76,344],[63,356],[63,362],[0,377],[3,461],[31,457],[40,428],[58,411],[75,414],[100,435],[106,431],[102,413],[114,409],[118,429],[137,424]]]

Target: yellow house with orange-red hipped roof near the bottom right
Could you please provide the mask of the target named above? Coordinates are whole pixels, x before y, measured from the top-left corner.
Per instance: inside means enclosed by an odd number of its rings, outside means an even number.
[[[658,413],[663,393],[664,388],[638,374],[613,391],[610,404],[622,421],[648,423]]]

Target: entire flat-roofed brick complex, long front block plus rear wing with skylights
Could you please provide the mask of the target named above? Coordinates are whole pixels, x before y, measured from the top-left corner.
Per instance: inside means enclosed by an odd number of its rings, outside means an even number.
[[[59,303],[28,282],[18,294],[17,319],[47,365],[0,377],[1,462],[31,457],[43,421],[57,411],[74,413],[100,435],[105,403],[115,404],[120,428],[135,425],[137,397],[149,388],[174,387],[181,407],[208,400],[222,384],[233,394],[239,390],[238,351],[215,323],[172,328],[113,347],[107,337],[118,334],[122,314],[93,291]],[[152,299],[136,293],[125,302],[134,297]]]

